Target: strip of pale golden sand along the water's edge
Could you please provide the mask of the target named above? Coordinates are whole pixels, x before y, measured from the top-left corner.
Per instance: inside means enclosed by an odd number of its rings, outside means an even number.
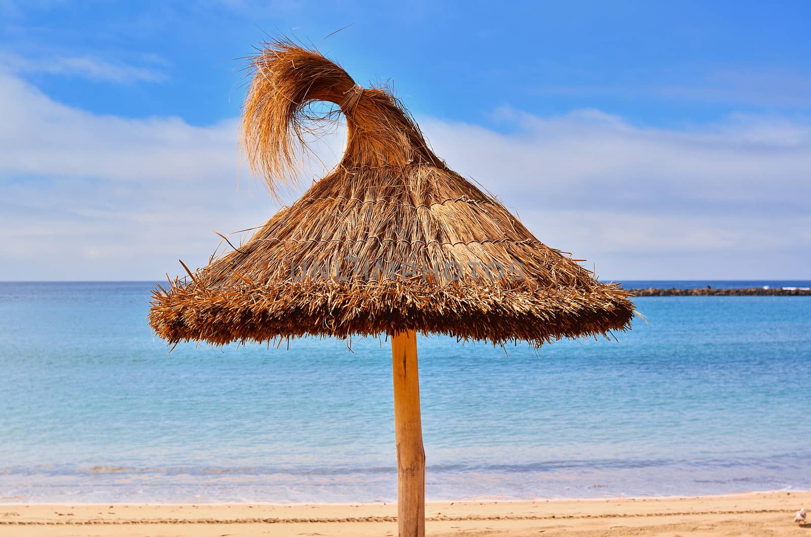
[[[429,535],[805,535],[811,492],[429,504]],[[396,535],[395,505],[0,504],[3,537]]]

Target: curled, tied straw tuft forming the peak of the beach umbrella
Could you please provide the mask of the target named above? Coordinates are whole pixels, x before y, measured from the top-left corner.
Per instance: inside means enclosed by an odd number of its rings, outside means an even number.
[[[339,166],[430,163],[436,157],[414,119],[386,88],[363,88],[335,62],[292,41],[263,43],[250,58],[252,75],[242,111],[242,148],[272,193],[291,187],[306,151],[310,105],[326,101],[345,115],[347,145]],[[332,115],[332,114],[328,114]],[[322,117],[323,118],[323,117]]]

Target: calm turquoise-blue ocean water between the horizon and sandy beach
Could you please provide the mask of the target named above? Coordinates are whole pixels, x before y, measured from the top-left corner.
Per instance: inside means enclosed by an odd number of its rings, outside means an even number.
[[[689,286],[809,286],[725,283]],[[0,283],[0,502],[396,498],[387,342],[167,354],[151,289]],[[428,499],[811,488],[811,297],[636,303],[618,342],[421,337]]]

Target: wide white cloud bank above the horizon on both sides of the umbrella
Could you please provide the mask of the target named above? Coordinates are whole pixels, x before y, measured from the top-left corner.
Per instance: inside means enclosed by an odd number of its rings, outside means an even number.
[[[91,114],[13,76],[0,75],[0,95],[0,280],[175,274],[178,258],[207,261],[212,228],[256,226],[276,210],[239,170],[235,119],[193,127]],[[449,165],[601,276],[807,276],[809,125],[736,116],[672,130],[596,110],[498,115],[508,133],[420,122]],[[341,144],[339,132],[318,149],[327,167]]]

